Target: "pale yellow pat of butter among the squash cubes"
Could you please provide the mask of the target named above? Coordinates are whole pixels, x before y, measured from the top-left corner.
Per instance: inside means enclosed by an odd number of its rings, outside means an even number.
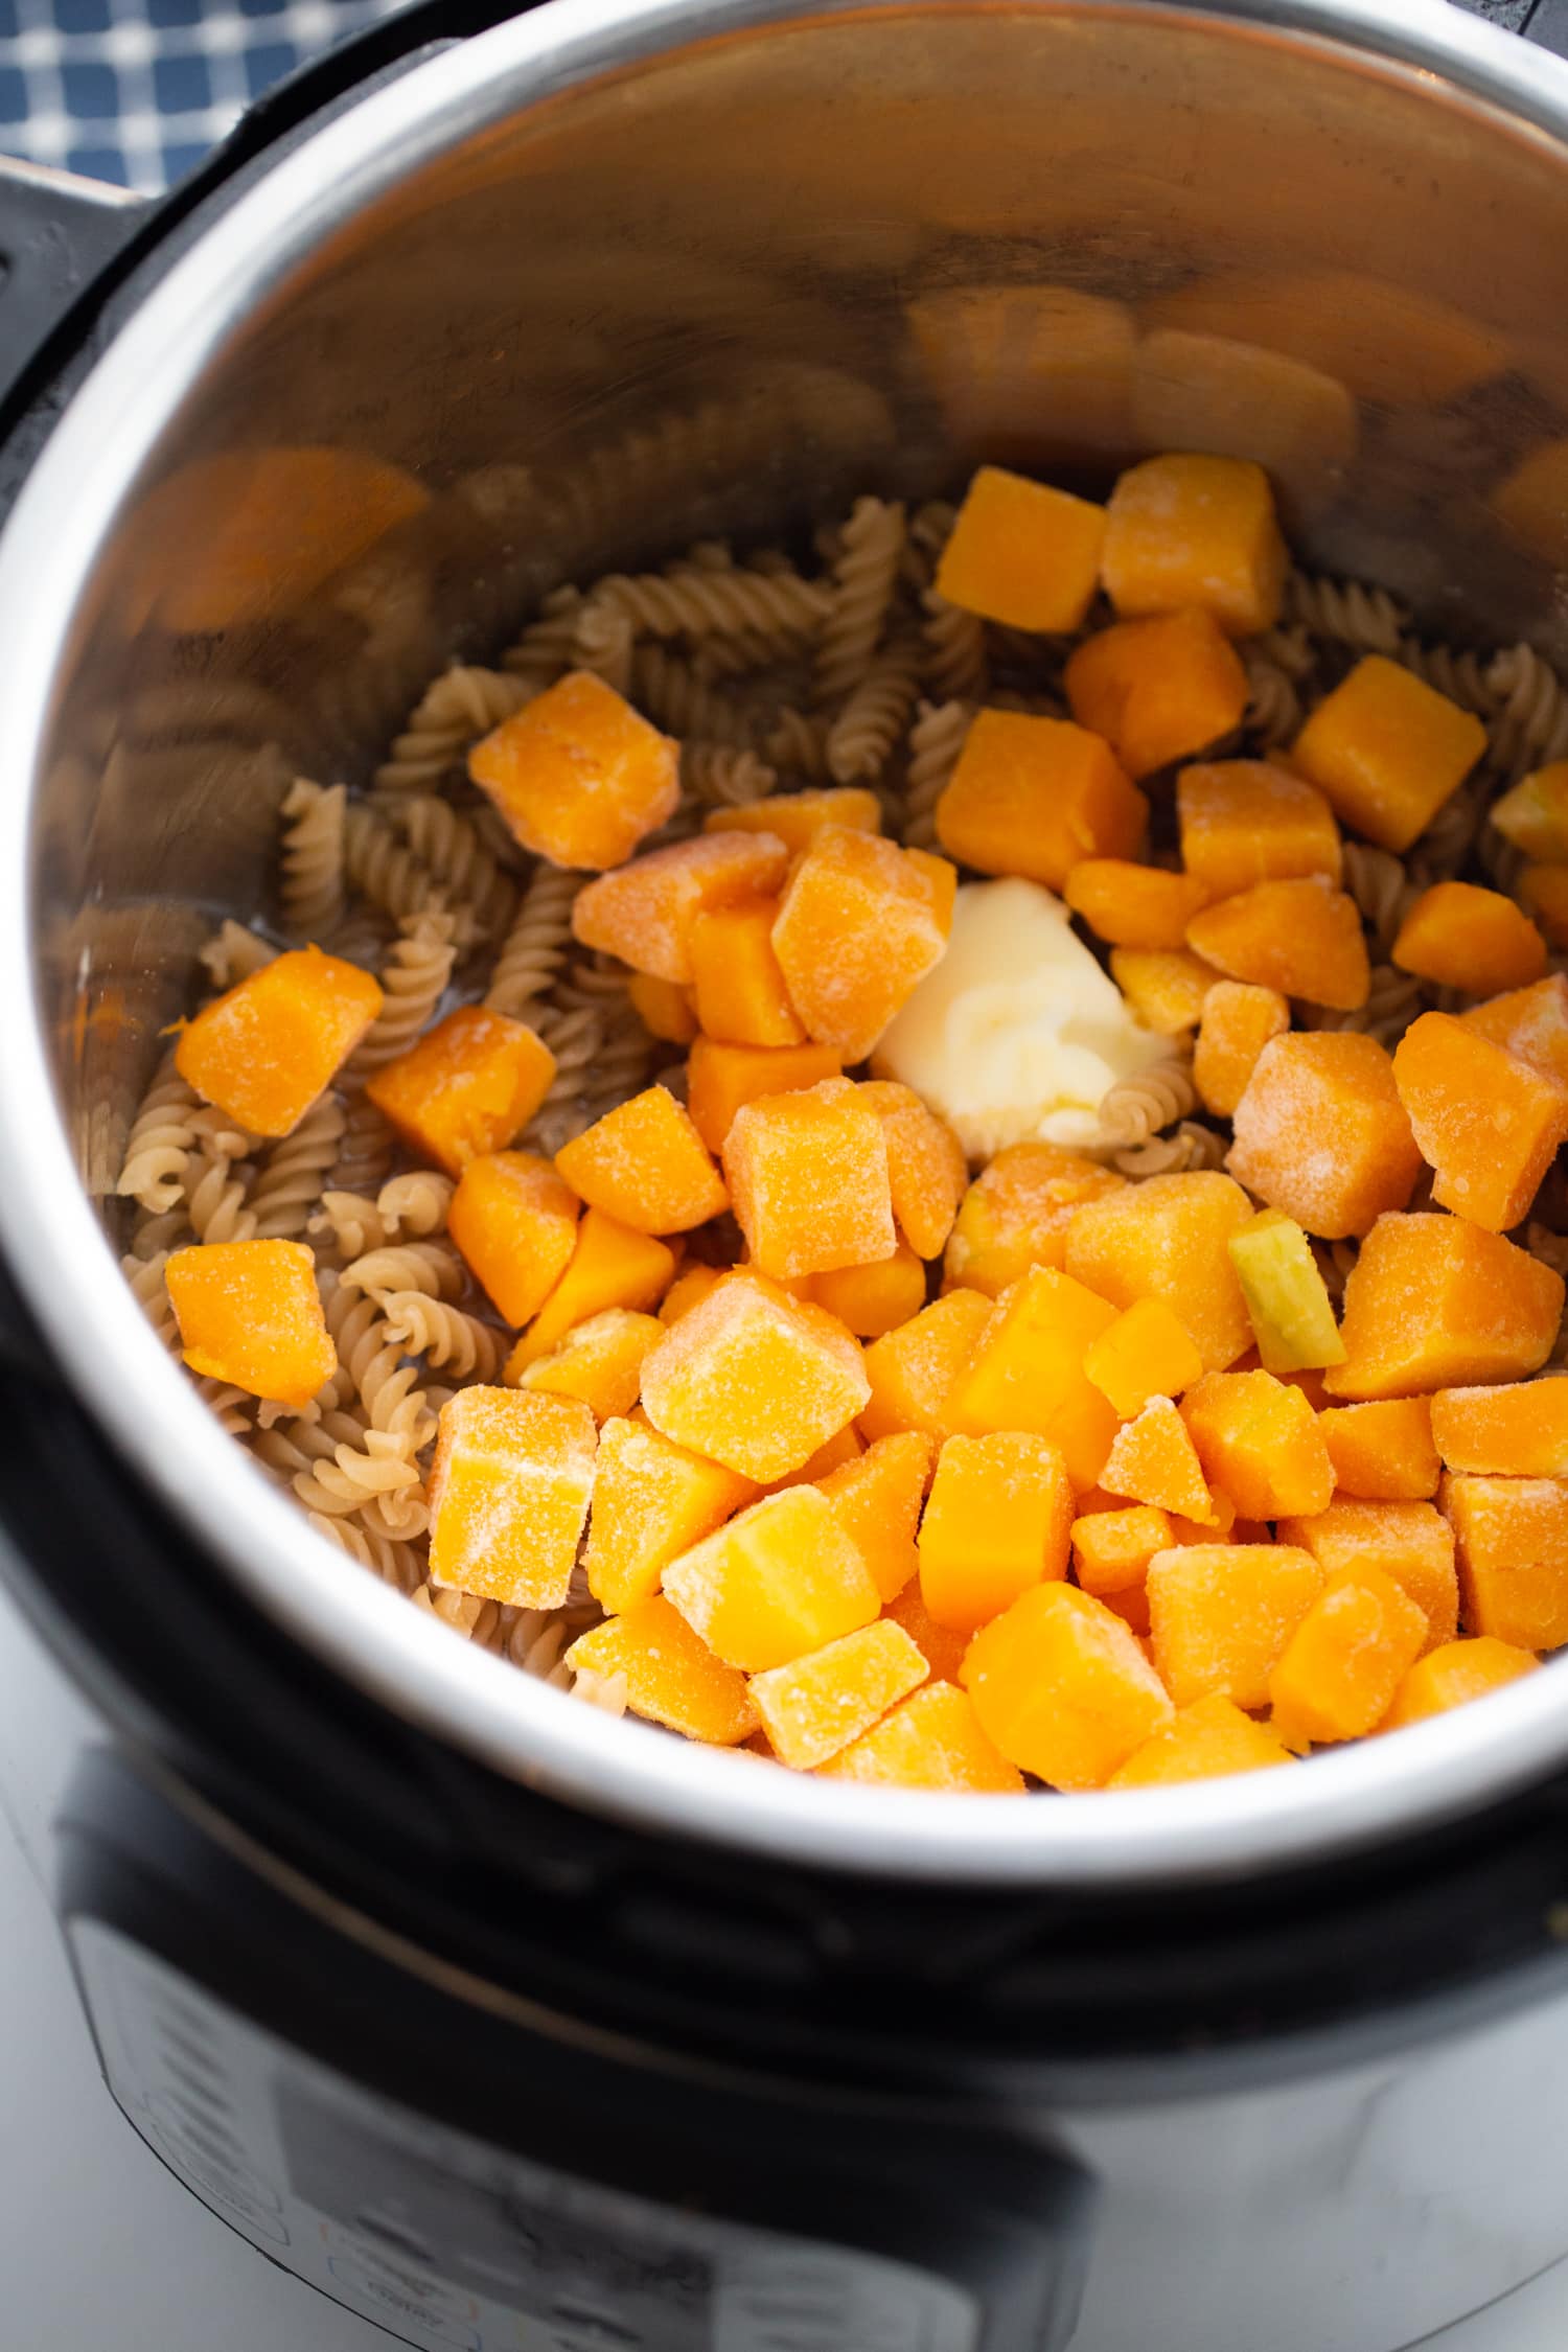
[[[882,1037],[877,1070],[914,1087],[971,1160],[990,1160],[1009,1143],[1091,1143],[1105,1094],[1168,1054],[1060,898],[1039,882],[969,882],[947,953]]]

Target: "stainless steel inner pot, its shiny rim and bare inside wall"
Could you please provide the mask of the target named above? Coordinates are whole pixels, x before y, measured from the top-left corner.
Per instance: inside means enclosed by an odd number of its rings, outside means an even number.
[[[557,0],[183,254],[0,548],[0,1242],[214,1573],[505,1773],[872,1870],[1222,1877],[1568,1759],[1561,1670],[1305,1771],[1034,1804],[604,1722],[317,1545],[143,1327],[108,1197],[287,774],[362,776],[559,579],[980,454],[1213,447],[1269,463],[1309,560],[1568,649],[1566,134],[1568,68],[1443,0]]]

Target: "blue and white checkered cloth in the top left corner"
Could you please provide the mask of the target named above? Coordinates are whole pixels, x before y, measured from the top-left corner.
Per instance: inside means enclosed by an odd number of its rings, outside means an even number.
[[[404,0],[0,0],[0,153],[155,195],[252,99]]]

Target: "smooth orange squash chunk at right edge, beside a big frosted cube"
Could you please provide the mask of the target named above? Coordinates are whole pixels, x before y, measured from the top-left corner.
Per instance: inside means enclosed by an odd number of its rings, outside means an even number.
[[[1488,1232],[1519,1225],[1568,1138],[1568,1087],[1450,1014],[1410,1023],[1394,1084],[1434,1171],[1432,1200]]]

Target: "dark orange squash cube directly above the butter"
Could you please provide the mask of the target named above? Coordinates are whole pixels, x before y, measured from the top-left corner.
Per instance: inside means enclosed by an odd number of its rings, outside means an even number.
[[[1150,804],[1110,746],[1070,720],[978,710],[936,804],[959,866],[1060,889],[1079,858],[1126,858]]]

